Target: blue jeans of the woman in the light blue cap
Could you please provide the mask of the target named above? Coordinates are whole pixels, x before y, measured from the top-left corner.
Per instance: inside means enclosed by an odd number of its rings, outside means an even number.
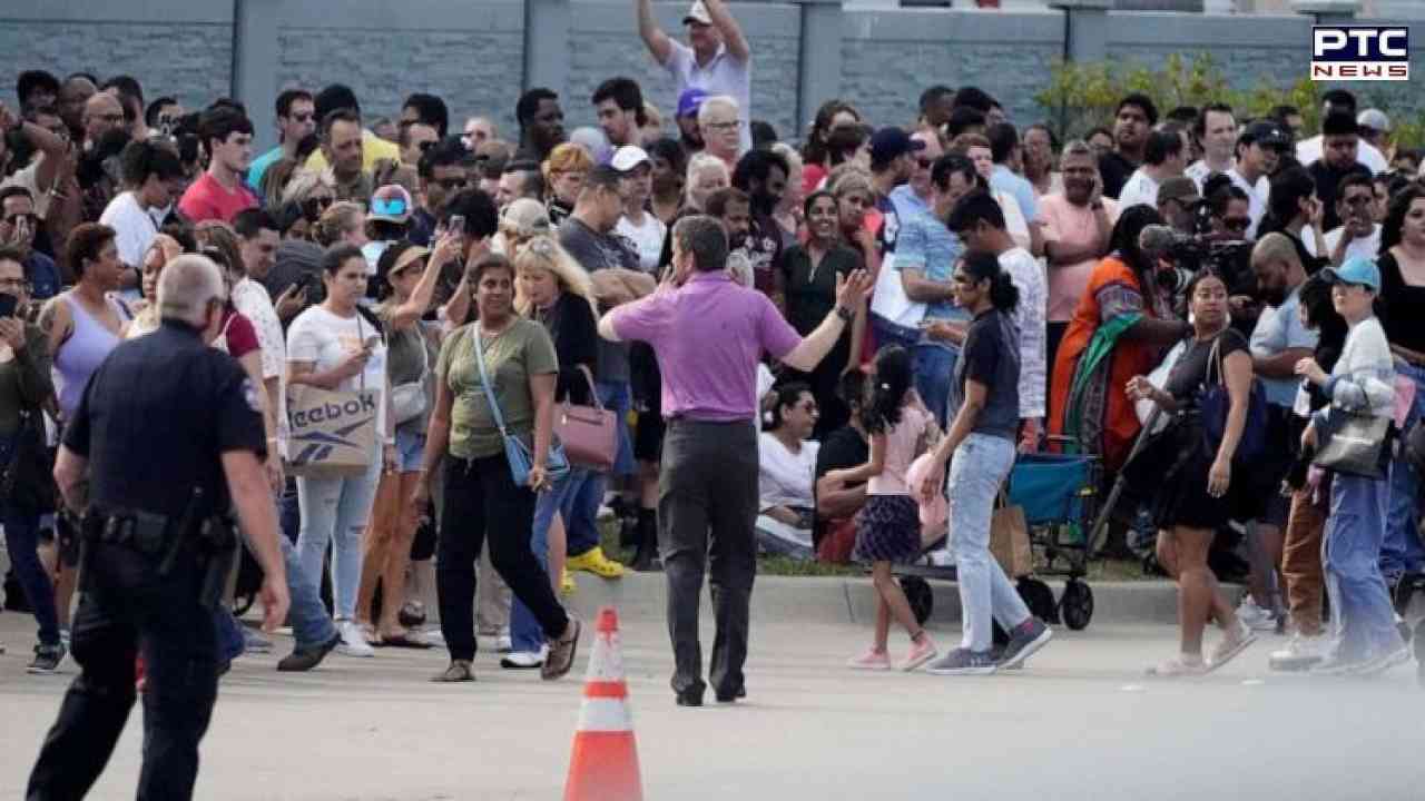
[[[1381,574],[1391,482],[1338,473],[1331,483],[1324,567],[1332,613],[1341,621],[1341,656],[1367,658],[1396,648],[1391,591]]]

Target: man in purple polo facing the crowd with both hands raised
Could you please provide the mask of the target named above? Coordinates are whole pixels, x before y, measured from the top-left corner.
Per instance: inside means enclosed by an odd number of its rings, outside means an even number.
[[[757,573],[757,365],[764,352],[809,372],[865,302],[871,278],[852,272],[836,308],[805,339],[767,295],[727,272],[727,234],[704,215],[673,228],[673,275],[657,292],[616,308],[598,335],[653,346],[663,371],[663,475],[658,543],[668,577],[673,690],[678,706],[703,704],[698,603],[712,567],[717,640],[708,677],[718,703],[745,694],[742,664]]]

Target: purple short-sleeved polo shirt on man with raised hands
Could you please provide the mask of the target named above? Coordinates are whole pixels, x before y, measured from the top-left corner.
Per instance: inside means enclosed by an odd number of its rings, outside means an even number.
[[[618,306],[613,328],[618,339],[653,346],[663,371],[663,415],[695,420],[755,420],[762,351],[784,359],[801,343],[767,295],[721,269]]]

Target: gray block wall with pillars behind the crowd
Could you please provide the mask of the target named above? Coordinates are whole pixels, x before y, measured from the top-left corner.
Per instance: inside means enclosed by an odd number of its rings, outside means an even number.
[[[150,97],[188,105],[237,94],[264,144],[271,104],[289,86],[351,84],[369,115],[395,114],[413,90],[446,98],[452,123],[493,115],[513,138],[526,87],[564,98],[570,127],[591,124],[589,97],[606,77],[638,80],[664,113],[673,81],[637,36],[630,0],[0,0],[0,98],[19,71],[128,73]],[[805,133],[824,100],[846,97],[881,123],[909,123],[921,88],[982,86],[1017,123],[1045,115],[1033,94],[1064,56],[1060,10],[842,9],[839,0],[737,1],[752,43],[752,117],[784,138]],[[658,1],[681,36],[685,0]],[[1210,50],[1243,88],[1302,76],[1311,19],[1109,11],[1087,14],[1074,53],[1159,66]],[[533,26],[533,27],[532,27]],[[839,26],[841,34],[835,36]],[[807,27],[808,36],[804,34]],[[1425,41],[1425,21],[1412,24]],[[235,46],[237,43],[237,46]],[[237,50],[235,50],[237,47]],[[237,66],[237,71],[235,71]],[[1425,47],[1415,48],[1425,70]],[[1425,71],[1419,73],[1425,76]],[[1365,103],[1425,107],[1416,84],[1354,84]]]

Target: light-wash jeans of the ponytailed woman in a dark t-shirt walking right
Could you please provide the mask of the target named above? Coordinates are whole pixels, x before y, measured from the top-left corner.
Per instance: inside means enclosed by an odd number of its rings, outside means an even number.
[[[1029,619],[1029,607],[989,552],[995,497],[1013,466],[1013,440],[983,433],[966,436],[950,462],[949,526],[965,620],[960,646],[972,651],[989,650],[990,617],[1006,631]]]

